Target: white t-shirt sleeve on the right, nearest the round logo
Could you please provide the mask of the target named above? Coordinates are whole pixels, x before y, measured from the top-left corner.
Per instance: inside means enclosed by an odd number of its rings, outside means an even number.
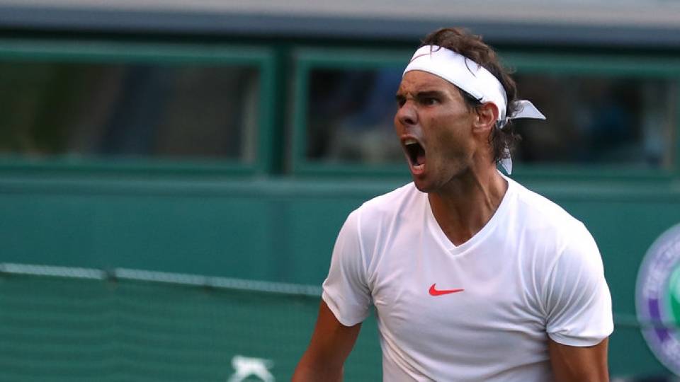
[[[597,245],[583,226],[574,229],[545,282],[545,328],[562,345],[599,344],[613,332],[611,294]]]

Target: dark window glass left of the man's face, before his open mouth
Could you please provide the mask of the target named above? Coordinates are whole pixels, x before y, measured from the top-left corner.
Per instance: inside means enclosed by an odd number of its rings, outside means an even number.
[[[402,70],[310,71],[307,161],[401,163],[392,120]]]

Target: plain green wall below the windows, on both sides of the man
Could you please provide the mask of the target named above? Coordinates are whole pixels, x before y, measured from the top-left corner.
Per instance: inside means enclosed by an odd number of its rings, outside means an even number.
[[[346,214],[405,181],[6,175],[0,261],[319,285]],[[525,184],[582,219],[599,244],[617,323],[613,375],[667,374],[635,322],[635,278],[647,248],[679,223],[680,190],[663,181]]]

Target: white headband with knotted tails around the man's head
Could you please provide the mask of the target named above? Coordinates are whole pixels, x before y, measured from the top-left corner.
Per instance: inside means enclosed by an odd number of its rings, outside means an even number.
[[[413,54],[404,74],[407,71],[421,70],[427,71],[436,76],[440,76],[446,81],[458,86],[470,96],[476,98],[481,103],[493,103],[498,108],[497,127],[502,129],[508,120],[514,118],[534,118],[545,120],[545,115],[528,100],[518,100],[519,106],[514,115],[506,116],[507,98],[505,89],[498,81],[496,76],[491,74],[482,65],[477,64],[462,54],[453,52],[438,45],[424,45],[419,47]],[[512,161],[510,153],[506,149],[506,158],[501,160],[501,166],[510,175],[512,173]]]

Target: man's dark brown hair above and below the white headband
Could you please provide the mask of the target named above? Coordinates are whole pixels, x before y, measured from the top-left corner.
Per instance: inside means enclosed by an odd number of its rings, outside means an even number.
[[[515,86],[515,81],[510,76],[511,71],[499,62],[496,52],[482,41],[482,37],[472,35],[472,33],[463,28],[442,28],[427,35],[420,46],[424,45],[445,47],[483,66],[500,81],[505,89],[507,97],[505,115],[513,115],[517,111],[515,104],[517,100],[517,87]],[[477,110],[482,105],[477,98],[472,97],[460,88],[458,90],[470,110]],[[492,145],[494,150],[494,161],[499,162],[505,158],[507,156],[505,149],[514,149],[514,146],[520,139],[519,134],[514,132],[511,120],[508,120],[503,129],[492,129],[489,135],[489,144]]]

